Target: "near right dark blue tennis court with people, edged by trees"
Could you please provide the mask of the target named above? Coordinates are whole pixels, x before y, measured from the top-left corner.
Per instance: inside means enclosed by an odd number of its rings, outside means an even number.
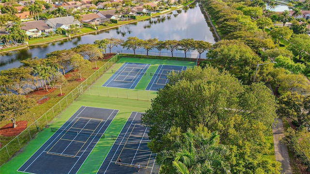
[[[133,112],[116,139],[97,174],[157,174],[154,169],[156,154],[147,147],[149,128],[140,124],[143,113]],[[121,159],[121,160],[120,160]]]

